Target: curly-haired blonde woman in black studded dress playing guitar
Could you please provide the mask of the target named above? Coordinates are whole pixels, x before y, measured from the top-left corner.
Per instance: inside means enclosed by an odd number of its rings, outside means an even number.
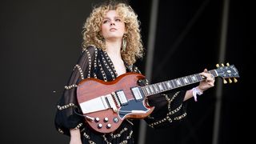
[[[70,135],[70,143],[134,143],[132,120],[126,119],[113,133],[91,130],[81,115],[76,87],[85,78],[113,81],[127,72],[140,73],[134,66],[142,58],[143,47],[137,14],[125,3],[109,2],[95,7],[86,19],[83,30],[83,50],[58,102],[55,117],[57,130]],[[192,90],[171,94],[156,94],[148,98],[154,111],[145,118],[149,126],[171,126],[186,116],[186,103],[214,86],[214,77],[201,73],[206,80]],[[147,84],[146,81],[141,82]]]

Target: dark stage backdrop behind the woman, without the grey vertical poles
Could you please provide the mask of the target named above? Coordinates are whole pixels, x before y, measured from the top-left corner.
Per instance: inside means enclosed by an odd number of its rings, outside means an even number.
[[[83,22],[98,2],[1,1],[1,143],[69,143],[69,138],[54,128],[55,104],[80,53]],[[130,1],[142,22],[145,47],[150,2]],[[215,68],[222,5],[221,0],[159,1],[152,82]],[[246,143],[253,138],[248,132],[254,126],[254,84],[249,84],[254,83],[255,53],[249,37],[253,28],[249,20],[254,16],[250,6],[241,0],[230,1],[225,62],[234,64],[241,78],[223,86],[221,144]],[[146,57],[137,62],[142,73],[145,63]],[[166,130],[148,127],[146,143],[211,143],[215,91],[215,87],[207,90],[198,102],[190,100],[181,126]],[[136,142],[138,122],[134,126]]]

